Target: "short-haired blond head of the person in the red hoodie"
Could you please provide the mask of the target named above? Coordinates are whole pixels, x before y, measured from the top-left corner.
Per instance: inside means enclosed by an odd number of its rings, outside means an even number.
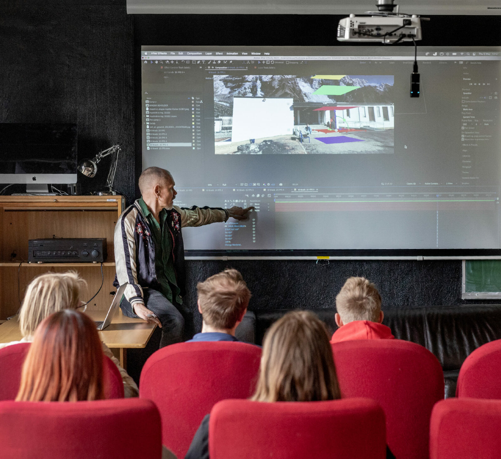
[[[336,296],[336,309],[344,324],[356,320],[382,320],[381,296],[376,286],[364,277],[350,277],[345,282]]]

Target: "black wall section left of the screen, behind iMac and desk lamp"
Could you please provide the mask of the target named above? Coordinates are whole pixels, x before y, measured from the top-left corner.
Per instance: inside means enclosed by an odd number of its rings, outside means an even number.
[[[132,196],[133,18],[123,1],[101,3],[107,5],[21,0],[2,7],[0,122],[76,123],[79,159],[120,143],[115,188]],[[95,178],[79,175],[83,192],[104,186],[109,159]]]

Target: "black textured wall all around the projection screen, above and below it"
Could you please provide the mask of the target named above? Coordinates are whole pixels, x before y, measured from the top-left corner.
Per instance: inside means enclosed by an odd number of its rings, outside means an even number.
[[[134,137],[135,129],[140,136],[140,121],[134,114],[140,104],[141,45],[334,46],[339,45],[335,41],[339,18],[132,17],[126,14],[124,0],[11,0],[0,15],[0,122],[77,123],[80,158],[121,143],[115,186],[133,198],[141,161],[140,142]],[[499,25],[498,17],[435,16],[423,24],[420,44],[500,45]],[[473,33],[480,30],[482,34]],[[90,191],[103,186],[106,175],[103,167],[96,178],[79,180],[83,190]],[[192,261],[187,265],[185,302],[193,309],[196,282],[226,266],[239,269],[247,280],[252,309],[330,307],[352,275],[374,281],[386,308],[466,303],[461,300],[460,261],[331,261],[328,266],[314,261]]]

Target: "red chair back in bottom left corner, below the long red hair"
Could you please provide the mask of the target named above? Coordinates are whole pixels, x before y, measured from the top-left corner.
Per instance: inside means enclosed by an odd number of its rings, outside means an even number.
[[[0,402],[0,459],[160,459],[160,415],[137,398]]]

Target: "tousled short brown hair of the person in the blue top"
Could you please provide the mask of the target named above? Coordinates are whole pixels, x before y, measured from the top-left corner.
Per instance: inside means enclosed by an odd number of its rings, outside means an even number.
[[[199,282],[196,289],[203,321],[214,328],[233,328],[241,320],[250,300],[247,284],[235,269],[210,276]]]

